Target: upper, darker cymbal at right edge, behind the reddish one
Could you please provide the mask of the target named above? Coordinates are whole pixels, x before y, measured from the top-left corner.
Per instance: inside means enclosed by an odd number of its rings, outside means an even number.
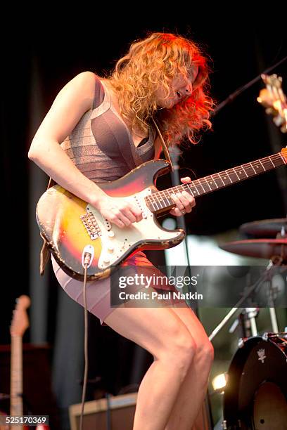
[[[276,237],[276,234],[281,232],[282,227],[287,232],[287,218],[263,219],[262,221],[245,223],[242,224],[239,231],[255,237]]]

